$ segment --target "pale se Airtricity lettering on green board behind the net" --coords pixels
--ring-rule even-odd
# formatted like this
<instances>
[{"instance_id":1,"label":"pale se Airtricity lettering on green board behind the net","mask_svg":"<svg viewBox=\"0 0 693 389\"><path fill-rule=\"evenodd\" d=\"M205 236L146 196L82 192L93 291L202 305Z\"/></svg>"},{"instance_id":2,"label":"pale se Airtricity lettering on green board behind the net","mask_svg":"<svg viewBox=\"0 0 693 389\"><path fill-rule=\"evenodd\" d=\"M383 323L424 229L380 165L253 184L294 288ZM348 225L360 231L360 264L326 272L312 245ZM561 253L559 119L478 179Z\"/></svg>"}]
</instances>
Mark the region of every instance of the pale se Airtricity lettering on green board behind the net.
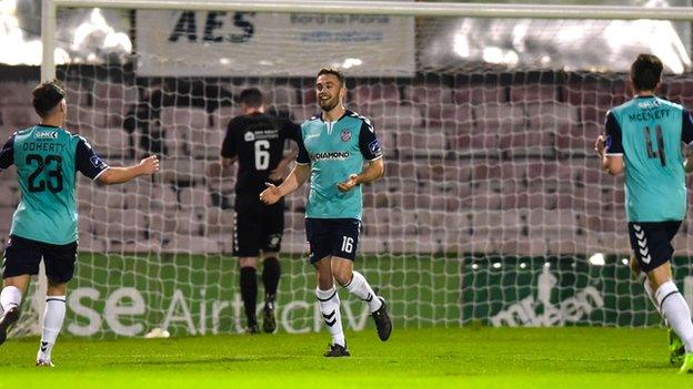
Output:
<instances>
[{"instance_id":1,"label":"pale se Airtricity lettering on green board behind the net","mask_svg":"<svg viewBox=\"0 0 693 389\"><path fill-rule=\"evenodd\" d=\"M161 307L164 313L162 320L150 323L147 319L148 304L135 288L116 289L103 298L103 309L93 308L93 303L102 299L97 288L77 288L68 298L68 308L74 315L67 330L77 336L92 336L102 330L111 330L119 336L139 336L154 327L184 328L187 335L243 331L245 315L240 294L234 294L230 301L210 299L205 294L205 289L200 289L195 296L185 296L181 289L175 289L170 298L164 299L168 306ZM342 301L342 323L346 328L362 330L370 311L368 305L354 303L352 307L351 301ZM258 311L261 308L262 305L259 305ZM279 328L289 334L320 331L324 327L317 301L292 300L277 306L275 315ZM231 328L221 328L220 323L229 317Z\"/></svg>"}]
</instances>

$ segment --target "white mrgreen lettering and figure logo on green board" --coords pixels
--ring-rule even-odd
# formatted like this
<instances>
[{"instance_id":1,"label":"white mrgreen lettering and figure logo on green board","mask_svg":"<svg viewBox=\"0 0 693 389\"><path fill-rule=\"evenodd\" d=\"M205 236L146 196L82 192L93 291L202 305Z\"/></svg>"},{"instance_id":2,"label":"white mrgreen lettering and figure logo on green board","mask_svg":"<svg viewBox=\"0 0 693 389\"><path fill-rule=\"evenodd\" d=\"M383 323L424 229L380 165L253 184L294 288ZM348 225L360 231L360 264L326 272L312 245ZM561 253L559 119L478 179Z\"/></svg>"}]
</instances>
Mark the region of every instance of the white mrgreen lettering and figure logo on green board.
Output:
<instances>
[{"instance_id":1,"label":"white mrgreen lettering and figure logo on green board","mask_svg":"<svg viewBox=\"0 0 693 389\"><path fill-rule=\"evenodd\" d=\"M602 294L593 286L584 287L562 301L552 301L551 295L558 278L548 268L536 277L536 297L529 295L491 317L500 326L549 327L576 323L604 306Z\"/></svg>"}]
</instances>

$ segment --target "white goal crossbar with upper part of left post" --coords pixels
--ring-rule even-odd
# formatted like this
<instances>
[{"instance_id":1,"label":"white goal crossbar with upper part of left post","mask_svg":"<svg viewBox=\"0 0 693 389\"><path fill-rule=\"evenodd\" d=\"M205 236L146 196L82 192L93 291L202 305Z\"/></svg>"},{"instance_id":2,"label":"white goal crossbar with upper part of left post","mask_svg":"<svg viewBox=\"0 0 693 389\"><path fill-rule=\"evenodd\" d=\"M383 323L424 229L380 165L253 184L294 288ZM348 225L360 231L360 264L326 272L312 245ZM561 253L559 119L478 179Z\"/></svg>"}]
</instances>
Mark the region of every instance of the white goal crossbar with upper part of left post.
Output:
<instances>
[{"instance_id":1,"label":"white goal crossbar with upper part of left post","mask_svg":"<svg viewBox=\"0 0 693 389\"><path fill-rule=\"evenodd\" d=\"M400 17L508 18L508 19L620 19L693 20L693 8L643 8L616 6L546 6L488 3L422 3L408 1L322 1L301 2L255 0L43 0L41 13L41 81L56 78L56 30L58 8L117 8L143 10L187 9L191 11L240 11L278 13L390 14Z\"/></svg>"}]
</instances>

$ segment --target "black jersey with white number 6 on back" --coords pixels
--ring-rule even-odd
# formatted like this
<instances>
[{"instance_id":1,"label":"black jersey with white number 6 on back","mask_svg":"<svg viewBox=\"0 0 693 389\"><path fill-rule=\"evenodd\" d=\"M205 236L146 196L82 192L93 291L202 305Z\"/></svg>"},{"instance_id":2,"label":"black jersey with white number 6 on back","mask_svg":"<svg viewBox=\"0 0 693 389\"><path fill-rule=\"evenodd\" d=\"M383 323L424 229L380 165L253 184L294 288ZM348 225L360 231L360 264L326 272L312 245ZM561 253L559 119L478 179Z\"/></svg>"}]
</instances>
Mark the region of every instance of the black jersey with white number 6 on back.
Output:
<instances>
[{"instance_id":1,"label":"black jersey with white number 6 on back","mask_svg":"<svg viewBox=\"0 0 693 389\"><path fill-rule=\"evenodd\" d=\"M221 146L221 156L238 156L235 193L257 197L284 153L287 140L295 141L301 127L290 120L261 113L233 117Z\"/></svg>"}]
</instances>

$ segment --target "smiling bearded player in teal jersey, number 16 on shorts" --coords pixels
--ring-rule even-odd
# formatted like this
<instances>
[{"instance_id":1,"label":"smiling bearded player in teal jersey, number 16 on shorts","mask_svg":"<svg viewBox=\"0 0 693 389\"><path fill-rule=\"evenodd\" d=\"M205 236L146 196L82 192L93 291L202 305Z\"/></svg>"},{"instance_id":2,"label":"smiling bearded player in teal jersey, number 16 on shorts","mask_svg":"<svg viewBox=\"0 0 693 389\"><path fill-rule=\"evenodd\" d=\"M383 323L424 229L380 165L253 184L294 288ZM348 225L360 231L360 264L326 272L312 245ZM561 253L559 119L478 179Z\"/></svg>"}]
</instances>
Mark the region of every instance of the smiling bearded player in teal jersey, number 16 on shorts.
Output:
<instances>
[{"instance_id":1,"label":"smiling bearded player in teal jersey, number 16 on shorts","mask_svg":"<svg viewBox=\"0 0 693 389\"><path fill-rule=\"evenodd\" d=\"M385 300L353 270L361 229L361 184L380 178L384 163L371 122L343 105L344 75L335 69L321 69L315 93L322 112L301 125L297 166L281 185L268 183L260 199L274 204L310 176L305 235L310 262L317 269L315 295L332 335L324 356L348 357L334 279L368 303L381 340L388 340L392 330Z\"/></svg>"}]
</instances>

